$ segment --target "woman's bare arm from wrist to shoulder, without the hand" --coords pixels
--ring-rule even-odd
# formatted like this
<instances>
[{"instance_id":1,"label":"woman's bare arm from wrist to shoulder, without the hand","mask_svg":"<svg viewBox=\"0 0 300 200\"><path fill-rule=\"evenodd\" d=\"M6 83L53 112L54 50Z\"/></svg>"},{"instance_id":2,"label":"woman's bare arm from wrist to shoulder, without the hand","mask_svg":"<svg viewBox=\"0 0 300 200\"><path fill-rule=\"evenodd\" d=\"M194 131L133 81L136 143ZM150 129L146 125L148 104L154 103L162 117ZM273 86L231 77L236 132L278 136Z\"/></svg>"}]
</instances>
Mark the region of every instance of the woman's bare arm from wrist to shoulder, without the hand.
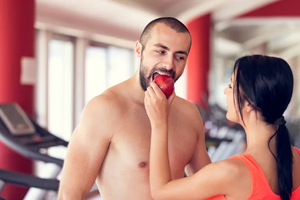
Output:
<instances>
[{"instance_id":1,"label":"woman's bare arm from wrist to shoulder, without the hand","mask_svg":"<svg viewBox=\"0 0 300 200\"><path fill-rule=\"evenodd\" d=\"M239 178L236 160L228 159L208 164L191 176L171 180L167 128L163 126L152 128L149 164L150 189L155 200L200 200L230 195Z\"/></svg>"}]
</instances>

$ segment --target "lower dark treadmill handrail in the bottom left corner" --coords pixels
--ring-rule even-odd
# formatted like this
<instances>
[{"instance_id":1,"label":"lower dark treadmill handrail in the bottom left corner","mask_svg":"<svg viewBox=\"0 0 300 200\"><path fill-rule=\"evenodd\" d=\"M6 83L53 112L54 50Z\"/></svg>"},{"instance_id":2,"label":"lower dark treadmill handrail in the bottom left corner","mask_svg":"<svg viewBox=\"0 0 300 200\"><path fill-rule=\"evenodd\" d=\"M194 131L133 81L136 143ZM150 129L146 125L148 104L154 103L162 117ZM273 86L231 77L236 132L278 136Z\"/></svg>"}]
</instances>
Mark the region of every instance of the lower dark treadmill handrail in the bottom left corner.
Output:
<instances>
[{"instance_id":1,"label":"lower dark treadmill handrail in the bottom left corner","mask_svg":"<svg viewBox=\"0 0 300 200\"><path fill-rule=\"evenodd\" d=\"M0 179L11 184L54 191L58 190L59 185L59 180L57 179L39 178L33 175L4 169L0 169Z\"/></svg>"}]
</instances>

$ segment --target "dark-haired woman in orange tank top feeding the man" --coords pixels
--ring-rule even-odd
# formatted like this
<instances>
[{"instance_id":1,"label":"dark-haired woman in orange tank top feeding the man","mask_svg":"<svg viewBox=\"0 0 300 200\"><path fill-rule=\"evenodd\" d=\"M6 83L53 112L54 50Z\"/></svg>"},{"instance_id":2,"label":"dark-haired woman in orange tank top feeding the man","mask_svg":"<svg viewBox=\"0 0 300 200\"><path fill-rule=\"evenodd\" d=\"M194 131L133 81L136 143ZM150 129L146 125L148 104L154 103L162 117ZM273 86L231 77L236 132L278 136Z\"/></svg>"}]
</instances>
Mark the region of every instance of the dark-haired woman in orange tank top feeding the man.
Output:
<instances>
[{"instance_id":1,"label":"dark-haired woman in orange tank top feeding the man","mask_svg":"<svg viewBox=\"0 0 300 200\"><path fill-rule=\"evenodd\" d=\"M292 91L292 71L283 59L263 55L237 59L224 90L226 117L243 126L246 150L210 163L191 176L172 180L167 118L175 93L166 98L152 82L145 91L145 108L151 122L152 197L299 200L300 151L291 146L283 117Z\"/></svg>"}]
</instances>

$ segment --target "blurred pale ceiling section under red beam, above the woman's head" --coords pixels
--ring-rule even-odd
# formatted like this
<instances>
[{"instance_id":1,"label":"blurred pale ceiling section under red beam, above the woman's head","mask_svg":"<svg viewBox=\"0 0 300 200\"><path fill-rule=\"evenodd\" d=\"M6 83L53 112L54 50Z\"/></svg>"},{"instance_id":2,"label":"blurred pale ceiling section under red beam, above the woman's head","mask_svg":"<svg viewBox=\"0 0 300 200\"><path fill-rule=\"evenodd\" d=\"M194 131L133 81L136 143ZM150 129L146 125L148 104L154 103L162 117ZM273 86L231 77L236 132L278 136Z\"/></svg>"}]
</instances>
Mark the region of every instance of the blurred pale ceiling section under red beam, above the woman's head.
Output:
<instances>
[{"instance_id":1,"label":"blurred pale ceiling section under red beam, above the woman's head","mask_svg":"<svg viewBox=\"0 0 300 200\"><path fill-rule=\"evenodd\" d=\"M235 19L227 27L218 29L215 35L222 40L217 51L223 56L253 53L257 46L262 49L256 53L268 52L285 59L300 54L300 18Z\"/></svg>"}]
</instances>

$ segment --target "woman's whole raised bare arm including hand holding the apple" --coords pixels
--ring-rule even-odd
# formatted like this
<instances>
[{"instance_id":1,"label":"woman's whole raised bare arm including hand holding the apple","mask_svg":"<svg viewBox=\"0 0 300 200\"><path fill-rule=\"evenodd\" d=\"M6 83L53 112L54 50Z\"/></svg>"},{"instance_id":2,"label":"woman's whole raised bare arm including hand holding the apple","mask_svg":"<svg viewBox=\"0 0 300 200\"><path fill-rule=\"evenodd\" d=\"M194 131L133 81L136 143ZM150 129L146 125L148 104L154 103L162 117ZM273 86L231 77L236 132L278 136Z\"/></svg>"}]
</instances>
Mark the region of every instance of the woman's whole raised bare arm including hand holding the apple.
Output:
<instances>
[{"instance_id":1,"label":"woman's whole raised bare arm including hand holding the apple","mask_svg":"<svg viewBox=\"0 0 300 200\"><path fill-rule=\"evenodd\" d=\"M232 193L232 183L238 180L235 160L223 160L206 165L195 174L171 180L168 158L168 113L172 101L166 99L155 83L145 92L145 108L151 122L150 189L156 199L206 199Z\"/></svg>"}]
</instances>

